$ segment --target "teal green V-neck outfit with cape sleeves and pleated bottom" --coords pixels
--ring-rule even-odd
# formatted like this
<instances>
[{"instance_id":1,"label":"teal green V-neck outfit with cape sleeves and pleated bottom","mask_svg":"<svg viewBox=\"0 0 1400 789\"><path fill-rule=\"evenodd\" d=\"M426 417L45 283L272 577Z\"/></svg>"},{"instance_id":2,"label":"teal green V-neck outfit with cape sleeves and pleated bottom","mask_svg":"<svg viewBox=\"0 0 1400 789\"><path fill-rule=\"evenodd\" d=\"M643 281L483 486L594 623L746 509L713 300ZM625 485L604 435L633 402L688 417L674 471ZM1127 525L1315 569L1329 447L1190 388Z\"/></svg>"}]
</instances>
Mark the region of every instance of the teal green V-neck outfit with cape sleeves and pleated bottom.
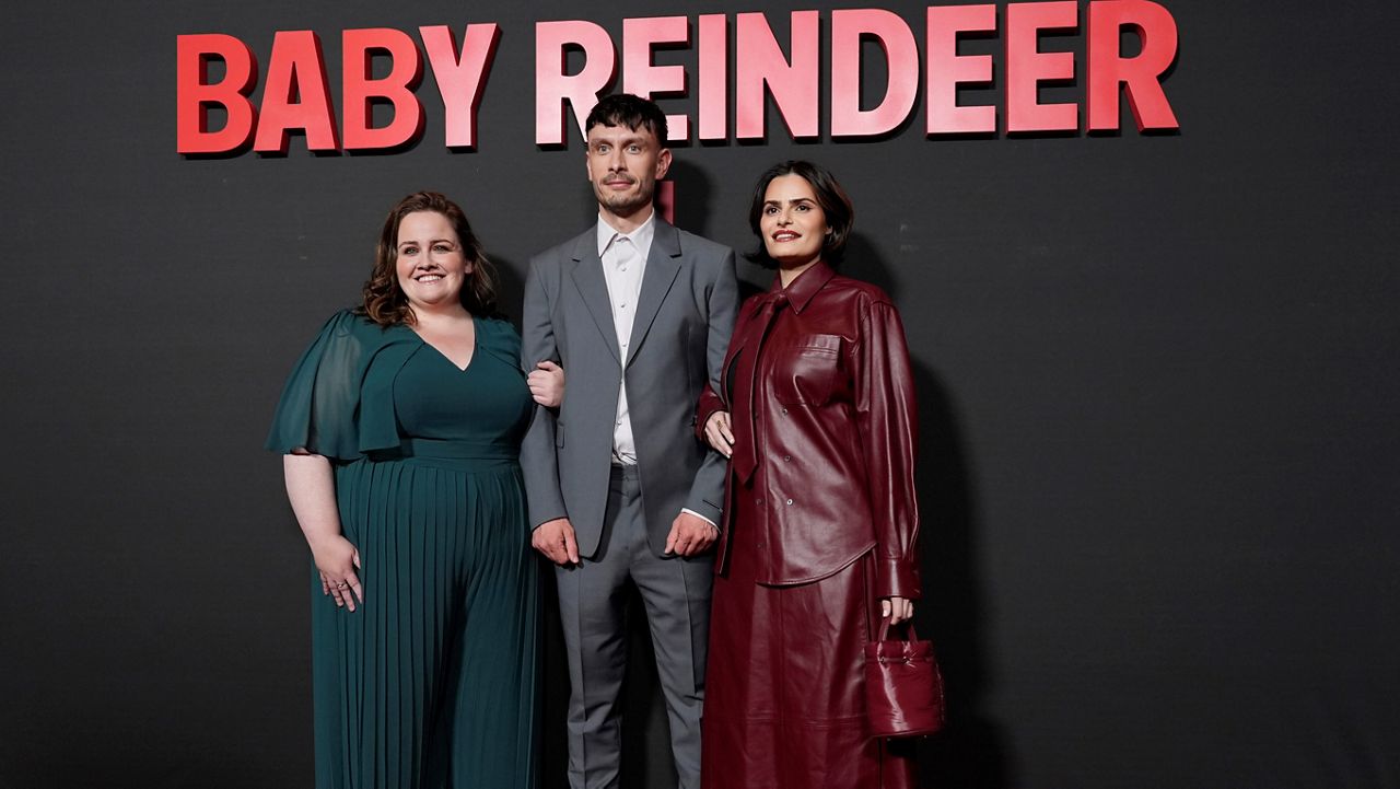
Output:
<instances>
[{"instance_id":1,"label":"teal green V-neck outfit with cape sleeves and pleated bottom","mask_svg":"<svg viewBox=\"0 0 1400 789\"><path fill-rule=\"evenodd\" d=\"M535 786L538 565L519 443L519 336L476 320L459 370L343 311L302 355L267 448L335 469L360 551L350 612L312 572L316 788Z\"/></svg>"}]
</instances>

